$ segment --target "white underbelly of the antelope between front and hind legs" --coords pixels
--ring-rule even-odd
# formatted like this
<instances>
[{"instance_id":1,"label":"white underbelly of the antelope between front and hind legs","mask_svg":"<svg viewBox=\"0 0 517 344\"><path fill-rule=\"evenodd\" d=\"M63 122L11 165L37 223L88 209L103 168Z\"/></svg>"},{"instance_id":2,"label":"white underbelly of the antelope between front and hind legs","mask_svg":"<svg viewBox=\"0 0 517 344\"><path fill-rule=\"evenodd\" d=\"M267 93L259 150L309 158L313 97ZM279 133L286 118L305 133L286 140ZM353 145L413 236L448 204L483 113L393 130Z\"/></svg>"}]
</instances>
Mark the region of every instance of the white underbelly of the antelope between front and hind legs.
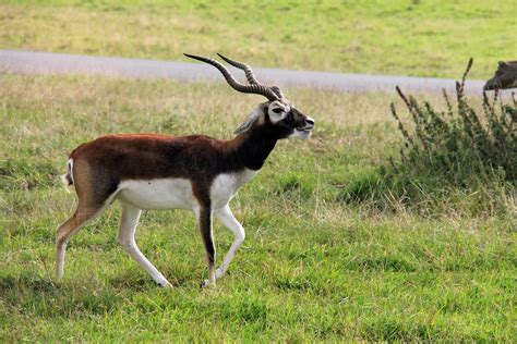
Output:
<instances>
[{"instance_id":1,"label":"white underbelly of the antelope between front and hind legs","mask_svg":"<svg viewBox=\"0 0 517 344\"><path fill-rule=\"evenodd\" d=\"M197 199L187 179L123 181L117 198L141 209L193 209Z\"/></svg>"}]
</instances>

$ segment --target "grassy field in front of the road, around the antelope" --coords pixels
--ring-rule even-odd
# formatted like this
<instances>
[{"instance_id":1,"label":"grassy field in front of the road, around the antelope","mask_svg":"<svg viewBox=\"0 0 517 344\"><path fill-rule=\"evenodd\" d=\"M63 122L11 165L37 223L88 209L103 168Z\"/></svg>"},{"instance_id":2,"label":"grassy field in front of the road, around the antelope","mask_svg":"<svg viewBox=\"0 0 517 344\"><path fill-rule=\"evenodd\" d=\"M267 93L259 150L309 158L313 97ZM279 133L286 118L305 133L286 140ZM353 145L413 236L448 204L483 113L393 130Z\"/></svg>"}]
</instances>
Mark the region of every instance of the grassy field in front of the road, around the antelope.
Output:
<instances>
[{"instance_id":1,"label":"grassy field in front of the road, around the antelope","mask_svg":"<svg viewBox=\"0 0 517 344\"><path fill-rule=\"evenodd\" d=\"M117 204L72 238L64 281L55 283L55 230L75 202L58 182L67 155L107 133L229 138L262 99L223 84L0 83L0 342L517 336L512 214L472 217L445 205L424 217L341 200L349 183L398 150L394 96L288 90L316 131L309 142L281 142L232 201L247 241L216 290L199 287L206 269L192 214L143 216L140 247L175 285L161 290L117 246ZM219 224L215 233L220 259L231 236Z\"/></svg>"}]
</instances>

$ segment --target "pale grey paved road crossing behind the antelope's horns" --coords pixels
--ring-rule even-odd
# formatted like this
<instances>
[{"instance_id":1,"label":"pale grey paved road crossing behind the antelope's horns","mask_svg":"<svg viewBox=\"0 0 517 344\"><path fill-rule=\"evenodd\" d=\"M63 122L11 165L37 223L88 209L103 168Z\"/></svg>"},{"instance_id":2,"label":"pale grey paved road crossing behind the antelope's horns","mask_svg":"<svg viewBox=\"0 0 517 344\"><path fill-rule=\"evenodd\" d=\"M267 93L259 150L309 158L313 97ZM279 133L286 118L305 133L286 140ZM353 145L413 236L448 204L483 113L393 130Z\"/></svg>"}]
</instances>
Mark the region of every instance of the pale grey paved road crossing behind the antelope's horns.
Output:
<instances>
[{"instance_id":1,"label":"pale grey paved road crossing behind the antelope's horns","mask_svg":"<svg viewBox=\"0 0 517 344\"><path fill-rule=\"evenodd\" d=\"M254 69L257 77L268 85L280 87L314 87L339 91L441 91L455 89L455 81L434 77L410 77L368 74L341 74L310 71ZM218 81L221 76L213 66L202 63L158 60L103 58L49 52L0 50L0 72L20 74L100 74L140 78L175 78L183 81ZM458 71L458 73L461 71ZM242 74L240 75L242 79ZM469 94L481 94L484 82L467 81Z\"/></svg>"}]
</instances>

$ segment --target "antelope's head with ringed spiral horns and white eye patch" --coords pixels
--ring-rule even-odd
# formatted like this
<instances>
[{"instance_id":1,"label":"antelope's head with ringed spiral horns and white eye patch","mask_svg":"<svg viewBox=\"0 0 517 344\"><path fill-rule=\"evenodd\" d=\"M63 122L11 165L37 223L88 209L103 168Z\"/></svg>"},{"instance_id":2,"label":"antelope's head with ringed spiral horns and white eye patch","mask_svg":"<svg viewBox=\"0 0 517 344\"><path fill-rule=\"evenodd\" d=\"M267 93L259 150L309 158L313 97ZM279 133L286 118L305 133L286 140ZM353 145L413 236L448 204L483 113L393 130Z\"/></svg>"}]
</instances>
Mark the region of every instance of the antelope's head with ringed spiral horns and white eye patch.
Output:
<instances>
[{"instance_id":1,"label":"antelope's head with ringed spiral horns and white eye patch","mask_svg":"<svg viewBox=\"0 0 517 344\"><path fill-rule=\"evenodd\" d=\"M218 69L233 89L245 94L262 95L268 99L268 101L261 103L248 115L244 123L235 131L235 134L241 134L251 128L261 128L276 138L308 139L311 136L314 128L314 120L296 109L284 96L279 87L261 84L248 64L230 60L218 53L223 60L245 72L249 83L245 85L239 83L225 65L214 59L187 53L185 56Z\"/></svg>"}]
</instances>

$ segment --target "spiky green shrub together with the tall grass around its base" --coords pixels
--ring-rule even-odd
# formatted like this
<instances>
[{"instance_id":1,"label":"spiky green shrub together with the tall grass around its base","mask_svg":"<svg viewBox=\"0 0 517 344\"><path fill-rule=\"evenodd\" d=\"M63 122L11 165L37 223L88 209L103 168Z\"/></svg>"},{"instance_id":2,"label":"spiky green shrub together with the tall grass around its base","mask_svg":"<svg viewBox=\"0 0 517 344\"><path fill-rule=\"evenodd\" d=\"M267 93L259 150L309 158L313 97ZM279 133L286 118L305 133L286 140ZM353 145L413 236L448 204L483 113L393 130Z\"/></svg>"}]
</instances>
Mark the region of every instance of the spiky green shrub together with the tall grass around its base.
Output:
<instances>
[{"instance_id":1,"label":"spiky green shrub together with the tall grass around its base","mask_svg":"<svg viewBox=\"0 0 517 344\"><path fill-rule=\"evenodd\" d=\"M503 105L500 93L493 100L483 94L480 109L465 96L465 78L456 83L453 105L444 90L445 111L428 101L406 96L399 87L412 119L409 131L395 105L392 114L402 135L400 157L390 158L377 173L349 183L340 199L373 204L385 209L394 204L428 213L455 210L471 216L507 212L517 184L517 103ZM453 209L454 210L454 209ZM455 211L454 210L454 211Z\"/></svg>"}]
</instances>

